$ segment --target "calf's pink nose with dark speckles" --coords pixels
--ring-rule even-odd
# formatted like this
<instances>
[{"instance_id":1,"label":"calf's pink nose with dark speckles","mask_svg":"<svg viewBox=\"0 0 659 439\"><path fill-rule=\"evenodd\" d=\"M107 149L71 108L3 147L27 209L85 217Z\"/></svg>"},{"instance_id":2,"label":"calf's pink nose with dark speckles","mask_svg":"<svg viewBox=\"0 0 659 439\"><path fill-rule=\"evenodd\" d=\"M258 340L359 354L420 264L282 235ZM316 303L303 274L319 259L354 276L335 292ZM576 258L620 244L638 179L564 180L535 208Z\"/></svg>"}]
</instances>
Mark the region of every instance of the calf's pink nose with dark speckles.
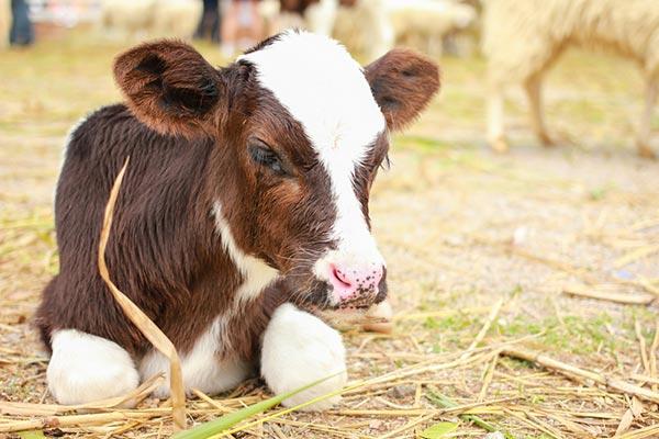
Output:
<instances>
[{"instance_id":1,"label":"calf's pink nose with dark speckles","mask_svg":"<svg viewBox=\"0 0 659 439\"><path fill-rule=\"evenodd\" d=\"M345 301L360 294L375 295L382 280L382 266L351 268L333 263L330 266L330 281L334 285L334 294Z\"/></svg>"}]
</instances>

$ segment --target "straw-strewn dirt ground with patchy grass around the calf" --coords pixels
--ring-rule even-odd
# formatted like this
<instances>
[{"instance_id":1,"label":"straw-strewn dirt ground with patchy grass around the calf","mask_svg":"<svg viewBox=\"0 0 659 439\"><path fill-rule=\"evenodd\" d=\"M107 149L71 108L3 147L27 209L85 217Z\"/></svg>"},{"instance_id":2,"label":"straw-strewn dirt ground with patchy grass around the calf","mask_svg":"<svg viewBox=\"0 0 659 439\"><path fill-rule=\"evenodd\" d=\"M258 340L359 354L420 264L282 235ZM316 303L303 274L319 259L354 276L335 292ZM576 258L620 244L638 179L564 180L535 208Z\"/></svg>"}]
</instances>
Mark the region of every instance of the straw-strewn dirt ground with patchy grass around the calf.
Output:
<instances>
[{"instance_id":1,"label":"straw-strewn dirt ground with patchy grass around the calf","mask_svg":"<svg viewBox=\"0 0 659 439\"><path fill-rule=\"evenodd\" d=\"M74 35L0 53L0 431L57 412L9 403L54 403L31 326L41 289L57 271L52 196L68 127L120 99L110 65L123 47ZM200 49L220 63L219 50ZM659 437L659 162L637 158L633 147L638 72L607 55L568 53L546 83L560 146L538 145L523 95L511 89L513 147L502 156L483 139L484 63L440 63L442 95L395 137L391 170L372 194L393 333L344 325L350 378L371 381L328 413L280 416L234 437L415 438L439 421L457 425L445 437L485 436L458 416L465 413L520 438L612 437L616 429ZM518 350L559 363L513 358ZM557 371L566 365L594 375L566 376ZM623 393L615 380L632 387ZM633 397L641 386L645 396ZM458 408L437 406L437 394ZM208 420L265 395L253 380L189 408ZM156 413L158 404L146 399L135 413ZM45 429L167 437L171 420L160 409Z\"/></svg>"}]
</instances>

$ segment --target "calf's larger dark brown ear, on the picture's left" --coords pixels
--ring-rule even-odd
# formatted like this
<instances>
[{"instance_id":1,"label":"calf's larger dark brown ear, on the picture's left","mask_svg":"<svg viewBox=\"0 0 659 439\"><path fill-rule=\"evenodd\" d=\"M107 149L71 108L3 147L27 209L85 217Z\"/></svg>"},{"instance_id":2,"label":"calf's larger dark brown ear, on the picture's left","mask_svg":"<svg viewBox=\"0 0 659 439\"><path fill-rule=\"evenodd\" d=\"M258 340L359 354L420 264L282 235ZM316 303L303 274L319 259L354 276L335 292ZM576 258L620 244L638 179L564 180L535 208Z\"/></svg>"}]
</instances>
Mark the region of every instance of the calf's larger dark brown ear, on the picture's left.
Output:
<instances>
[{"instance_id":1,"label":"calf's larger dark brown ear, on the picture's left","mask_svg":"<svg viewBox=\"0 0 659 439\"><path fill-rule=\"evenodd\" d=\"M222 79L191 46L159 41L134 47L114 61L114 78L150 128L187 137L212 132Z\"/></svg>"}]
</instances>

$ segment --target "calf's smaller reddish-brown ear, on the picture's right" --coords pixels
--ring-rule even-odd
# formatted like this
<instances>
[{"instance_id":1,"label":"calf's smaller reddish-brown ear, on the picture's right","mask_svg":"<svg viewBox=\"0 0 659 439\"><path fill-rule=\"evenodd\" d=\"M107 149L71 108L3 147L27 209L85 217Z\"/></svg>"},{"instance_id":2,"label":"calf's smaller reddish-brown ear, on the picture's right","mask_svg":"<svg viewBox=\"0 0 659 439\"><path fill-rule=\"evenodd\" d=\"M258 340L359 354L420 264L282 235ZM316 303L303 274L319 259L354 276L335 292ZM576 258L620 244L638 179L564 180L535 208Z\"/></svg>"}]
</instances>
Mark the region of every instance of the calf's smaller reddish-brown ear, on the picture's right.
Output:
<instances>
[{"instance_id":1,"label":"calf's smaller reddish-brown ear, on the picture's right","mask_svg":"<svg viewBox=\"0 0 659 439\"><path fill-rule=\"evenodd\" d=\"M364 72L391 131L414 121L439 90L437 65L410 49L394 48Z\"/></svg>"}]
</instances>

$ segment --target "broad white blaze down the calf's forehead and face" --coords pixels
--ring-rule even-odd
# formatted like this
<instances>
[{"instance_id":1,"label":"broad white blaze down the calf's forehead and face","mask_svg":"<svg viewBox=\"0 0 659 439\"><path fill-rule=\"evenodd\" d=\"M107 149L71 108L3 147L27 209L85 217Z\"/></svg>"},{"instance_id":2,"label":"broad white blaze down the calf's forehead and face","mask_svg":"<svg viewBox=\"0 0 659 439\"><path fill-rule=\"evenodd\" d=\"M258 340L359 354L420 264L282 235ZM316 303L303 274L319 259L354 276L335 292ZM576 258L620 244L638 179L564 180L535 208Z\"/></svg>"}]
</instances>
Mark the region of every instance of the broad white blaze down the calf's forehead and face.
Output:
<instances>
[{"instance_id":1,"label":"broad white blaze down the calf's forehead and face","mask_svg":"<svg viewBox=\"0 0 659 439\"><path fill-rule=\"evenodd\" d=\"M356 168L386 128L361 66L337 42L293 31L239 59L256 67L259 85L300 122L330 176L336 204L330 238L338 248L319 261L316 274L326 278L335 258L383 266L353 185Z\"/></svg>"}]
</instances>

